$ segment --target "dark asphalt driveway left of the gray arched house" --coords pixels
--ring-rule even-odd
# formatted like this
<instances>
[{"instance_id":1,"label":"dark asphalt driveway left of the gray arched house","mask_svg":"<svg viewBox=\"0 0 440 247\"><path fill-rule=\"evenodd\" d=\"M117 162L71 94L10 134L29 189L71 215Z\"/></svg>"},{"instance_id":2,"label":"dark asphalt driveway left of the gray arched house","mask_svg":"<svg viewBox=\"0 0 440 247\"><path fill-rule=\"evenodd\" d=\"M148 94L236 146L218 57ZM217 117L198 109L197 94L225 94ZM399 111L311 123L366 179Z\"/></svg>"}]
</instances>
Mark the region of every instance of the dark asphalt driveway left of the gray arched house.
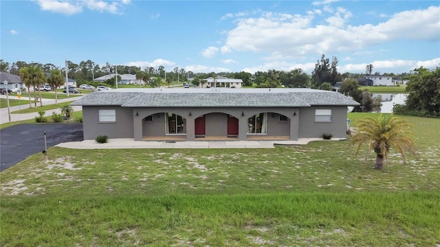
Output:
<instances>
[{"instance_id":1,"label":"dark asphalt driveway left of the gray arched house","mask_svg":"<svg viewBox=\"0 0 440 247\"><path fill-rule=\"evenodd\" d=\"M68 141L83 141L83 124L19 124L0 130L0 171L44 150Z\"/></svg>"}]
</instances>

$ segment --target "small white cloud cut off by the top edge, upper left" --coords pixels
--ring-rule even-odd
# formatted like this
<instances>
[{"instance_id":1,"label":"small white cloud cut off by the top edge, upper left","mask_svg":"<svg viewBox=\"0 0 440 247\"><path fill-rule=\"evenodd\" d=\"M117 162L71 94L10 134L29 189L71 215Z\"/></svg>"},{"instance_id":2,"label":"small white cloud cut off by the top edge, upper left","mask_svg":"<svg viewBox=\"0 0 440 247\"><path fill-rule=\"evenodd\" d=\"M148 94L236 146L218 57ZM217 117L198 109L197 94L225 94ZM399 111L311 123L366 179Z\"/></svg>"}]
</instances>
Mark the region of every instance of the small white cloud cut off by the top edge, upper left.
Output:
<instances>
[{"instance_id":1,"label":"small white cloud cut off by the top edge, upper left","mask_svg":"<svg viewBox=\"0 0 440 247\"><path fill-rule=\"evenodd\" d=\"M87 1L48 1L38 0L41 10L52 11L60 14L72 15L78 14L83 11L83 7L98 12L110 12L112 14L118 14L122 5L131 3L131 0L122 1L100 1L100 0L87 0Z\"/></svg>"}]
</instances>

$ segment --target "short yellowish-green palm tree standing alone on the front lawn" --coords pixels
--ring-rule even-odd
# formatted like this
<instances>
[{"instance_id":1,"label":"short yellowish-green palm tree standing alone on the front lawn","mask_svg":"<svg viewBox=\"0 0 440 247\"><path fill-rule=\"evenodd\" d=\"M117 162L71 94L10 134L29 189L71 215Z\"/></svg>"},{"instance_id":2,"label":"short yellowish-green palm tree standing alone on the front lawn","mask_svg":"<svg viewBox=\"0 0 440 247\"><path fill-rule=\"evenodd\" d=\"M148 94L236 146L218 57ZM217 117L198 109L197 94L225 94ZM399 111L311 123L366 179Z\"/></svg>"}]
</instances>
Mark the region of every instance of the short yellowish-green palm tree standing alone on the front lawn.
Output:
<instances>
[{"instance_id":1,"label":"short yellowish-green palm tree standing alone on the front lawn","mask_svg":"<svg viewBox=\"0 0 440 247\"><path fill-rule=\"evenodd\" d=\"M366 117L360 120L357 133L351 138L351 144L357 145L357 155L361 146L369 145L369 151L376 154L375 169L384 167L390 148L395 148L405 161L405 152L415 153L414 142L408 134L412 126L393 115L379 115L376 119Z\"/></svg>"}]
</instances>

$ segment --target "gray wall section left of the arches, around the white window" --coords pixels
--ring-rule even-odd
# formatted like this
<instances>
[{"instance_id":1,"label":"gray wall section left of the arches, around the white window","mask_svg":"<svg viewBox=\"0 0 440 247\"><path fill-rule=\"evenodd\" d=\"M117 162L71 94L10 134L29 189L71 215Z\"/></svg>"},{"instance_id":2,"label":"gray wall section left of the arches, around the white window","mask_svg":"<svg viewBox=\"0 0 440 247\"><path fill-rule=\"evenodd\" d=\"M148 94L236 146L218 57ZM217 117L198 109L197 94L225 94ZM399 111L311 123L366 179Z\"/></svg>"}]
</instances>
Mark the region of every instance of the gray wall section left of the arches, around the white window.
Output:
<instances>
[{"instance_id":1,"label":"gray wall section left of the arches, around the white window","mask_svg":"<svg viewBox=\"0 0 440 247\"><path fill-rule=\"evenodd\" d=\"M98 110L115 110L115 123L99 123ZM133 138L133 110L121 106L83 106L84 139L94 140L98 135L109 138Z\"/></svg>"}]
</instances>

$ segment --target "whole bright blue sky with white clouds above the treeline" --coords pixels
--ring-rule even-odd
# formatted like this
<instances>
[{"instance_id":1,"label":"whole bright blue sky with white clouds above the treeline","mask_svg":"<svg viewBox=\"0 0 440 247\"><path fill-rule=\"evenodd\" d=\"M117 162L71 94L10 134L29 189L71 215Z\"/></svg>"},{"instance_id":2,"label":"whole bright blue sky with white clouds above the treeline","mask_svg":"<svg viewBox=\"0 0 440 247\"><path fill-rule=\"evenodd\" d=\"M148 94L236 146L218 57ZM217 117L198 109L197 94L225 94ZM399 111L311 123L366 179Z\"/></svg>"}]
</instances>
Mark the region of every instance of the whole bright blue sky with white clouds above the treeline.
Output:
<instances>
[{"instance_id":1,"label":"whole bright blue sky with white clouds above the treeline","mask_svg":"<svg viewBox=\"0 0 440 247\"><path fill-rule=\"evenodd\" d=\"M439 1L0 1L6 62L311 73L440 66Z\"/></svg>"}]
</instances>

